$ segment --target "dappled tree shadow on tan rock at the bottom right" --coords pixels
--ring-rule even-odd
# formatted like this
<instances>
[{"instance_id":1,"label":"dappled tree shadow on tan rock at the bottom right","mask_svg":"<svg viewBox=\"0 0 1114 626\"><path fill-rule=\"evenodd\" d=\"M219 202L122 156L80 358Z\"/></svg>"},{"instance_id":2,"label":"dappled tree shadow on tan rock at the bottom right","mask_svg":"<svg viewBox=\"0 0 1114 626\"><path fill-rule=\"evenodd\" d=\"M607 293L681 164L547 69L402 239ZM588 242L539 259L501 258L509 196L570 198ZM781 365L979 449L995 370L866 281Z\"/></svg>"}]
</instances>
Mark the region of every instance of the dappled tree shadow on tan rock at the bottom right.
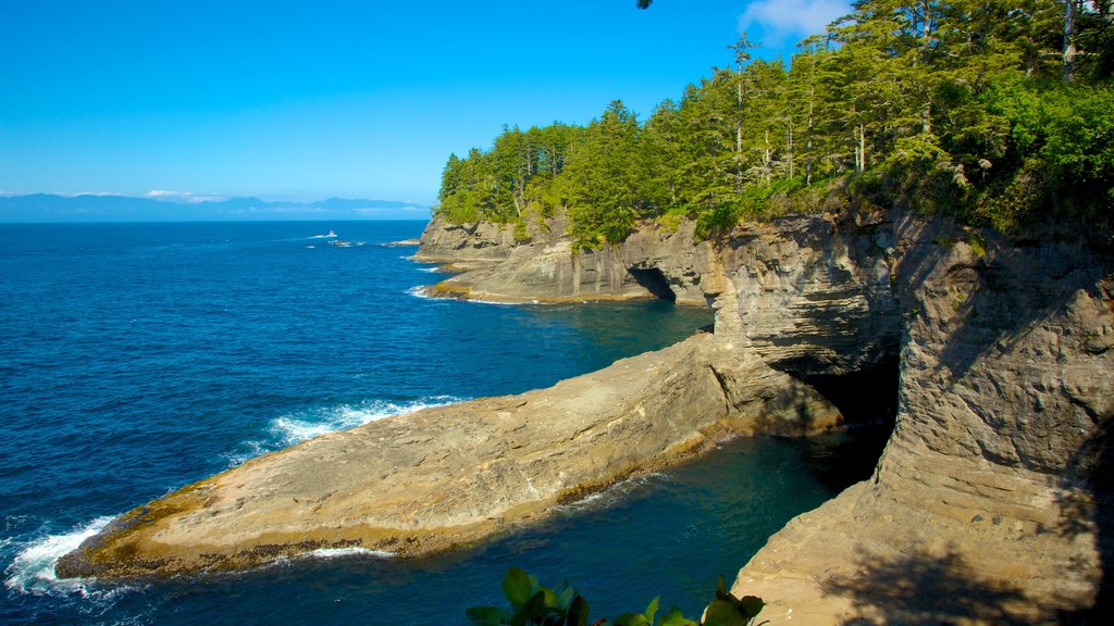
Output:
<instances>
[{"instance_id":1,"label":"dappled tree shadow on tan rock at the bottom right","mask_svg":"<svg viewBox=\"0 0 1114 626\"><path fill-rule=\"evenodd\" d=\"M898 558L864 556L857 576L833 576L824 594L849 598L858 615L843 624L937 626L957 622L1030 624L1020 589L983 578L955 551Z\"/></svg>"}]
</instances>

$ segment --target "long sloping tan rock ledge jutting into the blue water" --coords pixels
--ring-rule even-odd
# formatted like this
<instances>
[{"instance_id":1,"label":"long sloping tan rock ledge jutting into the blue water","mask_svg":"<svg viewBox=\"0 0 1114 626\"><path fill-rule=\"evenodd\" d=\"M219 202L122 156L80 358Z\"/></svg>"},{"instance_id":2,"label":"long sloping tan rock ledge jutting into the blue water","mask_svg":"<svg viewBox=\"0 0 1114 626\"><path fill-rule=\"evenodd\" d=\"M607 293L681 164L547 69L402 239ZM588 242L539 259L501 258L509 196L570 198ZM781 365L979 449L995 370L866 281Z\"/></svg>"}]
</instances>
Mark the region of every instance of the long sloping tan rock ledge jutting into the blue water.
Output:
<instances>
[{"instance_id":1,"label":"long sloping tan rock ledge jutting into the blue water","mask_svg":"<svg viewBox=\"0 0 1114 626\"><path fill-rule=\"evenodd\" d=\"M319 548L409 557L469 545L733 434L798 432L802 415L817 431L841 420L811 388L786 393L786 379L698 334L549 389L395 415L250 460L121 516L56 570L164 576Z\"/></svg>"}]
</instances>

